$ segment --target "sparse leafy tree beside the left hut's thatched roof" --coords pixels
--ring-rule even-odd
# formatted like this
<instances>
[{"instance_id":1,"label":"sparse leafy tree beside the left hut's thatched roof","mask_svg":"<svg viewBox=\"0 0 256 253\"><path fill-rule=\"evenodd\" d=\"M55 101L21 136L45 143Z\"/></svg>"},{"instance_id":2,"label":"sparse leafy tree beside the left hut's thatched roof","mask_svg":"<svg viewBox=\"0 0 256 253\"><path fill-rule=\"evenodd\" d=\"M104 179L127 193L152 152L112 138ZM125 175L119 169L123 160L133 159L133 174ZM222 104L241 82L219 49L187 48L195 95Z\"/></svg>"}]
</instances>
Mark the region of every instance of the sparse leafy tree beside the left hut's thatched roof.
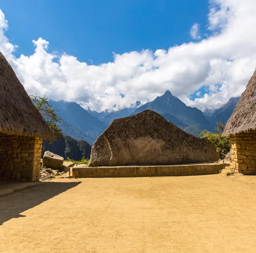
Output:
<instances>
[{"instance_id":1,"label":"sparse leafy tree beside the left hut's thatched roof","mask_svg":"<svg viewBox=\"0 0 256 253\"><path fill-rule=\"evenodd\" d=\"M54 132L54 141L57 141L61 138L62 131L58 125L61 122L61 118L58 118L55 109L52 109L52 105L48 103L47 97L40 97L39 95L30 95L31 100L45 118L47 124ZM49 141L49 140L48 140ZM50 142L50 141L49 141Z\"/></svg>"}]
</instances>

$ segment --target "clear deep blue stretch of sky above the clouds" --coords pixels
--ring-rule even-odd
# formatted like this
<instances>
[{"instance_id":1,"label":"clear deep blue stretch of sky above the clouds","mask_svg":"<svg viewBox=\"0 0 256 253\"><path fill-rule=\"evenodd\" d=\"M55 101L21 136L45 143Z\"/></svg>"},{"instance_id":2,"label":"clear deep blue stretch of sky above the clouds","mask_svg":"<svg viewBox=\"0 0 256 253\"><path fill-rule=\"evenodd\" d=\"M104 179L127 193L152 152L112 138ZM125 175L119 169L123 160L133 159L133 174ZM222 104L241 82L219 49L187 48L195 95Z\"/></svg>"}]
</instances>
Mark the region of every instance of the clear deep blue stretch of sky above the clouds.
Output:
<instances>
[{"instance_id":1,"label":"clear deep blue stretch of sky above the clouds","mask_svg":"<svg viewBox=\"0 0 256 253\"><path fill-rule=\"evenodd\" d=\"M193 23L206 32L206 0L8 0L0 9L7 37L31 55L32 40L49 41L49 51L66 52L88 64L107 63L113 52L168 49L191 40Z\"/></svg>"}]
</instances>

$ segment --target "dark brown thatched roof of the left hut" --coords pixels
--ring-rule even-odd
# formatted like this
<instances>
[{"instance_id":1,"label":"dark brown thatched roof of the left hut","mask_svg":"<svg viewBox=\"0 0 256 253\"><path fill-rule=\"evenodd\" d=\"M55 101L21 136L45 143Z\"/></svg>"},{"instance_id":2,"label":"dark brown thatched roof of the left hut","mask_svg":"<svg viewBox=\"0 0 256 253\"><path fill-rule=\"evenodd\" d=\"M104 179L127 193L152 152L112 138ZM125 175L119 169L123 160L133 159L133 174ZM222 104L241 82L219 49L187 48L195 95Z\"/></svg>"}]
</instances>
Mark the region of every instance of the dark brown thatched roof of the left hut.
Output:
<instances>
[{"instance_id":1,"label":"dark brown thatched roof of the left hut","mask_svg":"<svg viewBox=\"0 0 256 253\"><path fill-rule=\"evenodd\" d=\"M0 133L52 138L53 132L0 52Z\"/></svg>"}]
</instances>

